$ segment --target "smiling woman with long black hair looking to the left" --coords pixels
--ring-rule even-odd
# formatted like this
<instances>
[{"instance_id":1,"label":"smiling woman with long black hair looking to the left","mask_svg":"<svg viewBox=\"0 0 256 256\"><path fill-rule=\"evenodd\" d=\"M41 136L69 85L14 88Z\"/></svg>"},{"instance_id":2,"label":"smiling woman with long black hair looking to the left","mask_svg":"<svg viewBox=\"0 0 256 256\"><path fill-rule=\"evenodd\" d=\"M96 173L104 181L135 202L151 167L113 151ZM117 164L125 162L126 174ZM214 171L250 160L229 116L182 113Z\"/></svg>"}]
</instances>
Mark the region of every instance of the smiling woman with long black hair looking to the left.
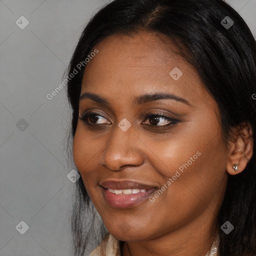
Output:
<instances>
[{"instance_id":1,"label":"smiling woman with long black hair looking to the left","mask_svg":"<svg viewBox=\"0 0 256 256\"><path fill-rule=\"evenodd\" d=\"M256 255L255 60L222 0L94 15L68 69L75 255Z\"/></svg>"}]
</instances>

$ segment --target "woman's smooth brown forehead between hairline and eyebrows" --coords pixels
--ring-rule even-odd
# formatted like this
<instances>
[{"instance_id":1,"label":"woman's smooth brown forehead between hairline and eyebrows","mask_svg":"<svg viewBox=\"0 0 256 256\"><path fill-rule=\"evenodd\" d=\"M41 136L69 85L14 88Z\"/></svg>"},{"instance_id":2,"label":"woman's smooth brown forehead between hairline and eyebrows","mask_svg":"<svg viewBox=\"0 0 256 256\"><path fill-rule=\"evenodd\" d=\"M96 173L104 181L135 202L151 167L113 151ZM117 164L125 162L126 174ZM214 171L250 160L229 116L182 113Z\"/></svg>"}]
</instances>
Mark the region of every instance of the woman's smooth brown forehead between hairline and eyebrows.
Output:
<instances>
[{"instance_id":1,"label":"woman's smooth brown forehead between hairline and eyebrows","mask_svg":"<svg viewBox=\"0 0 256 256\"><path fill-rule=\"evenodd\" d=\"M187 95L188 100L206 93L196 70L164 37L147 32L115 34L95 48L98 53L86 65L81 94L91 91L114 101L147 92ZM170 76L175 68L182 73L178 80Z\"/></svg>"}]
</instances>

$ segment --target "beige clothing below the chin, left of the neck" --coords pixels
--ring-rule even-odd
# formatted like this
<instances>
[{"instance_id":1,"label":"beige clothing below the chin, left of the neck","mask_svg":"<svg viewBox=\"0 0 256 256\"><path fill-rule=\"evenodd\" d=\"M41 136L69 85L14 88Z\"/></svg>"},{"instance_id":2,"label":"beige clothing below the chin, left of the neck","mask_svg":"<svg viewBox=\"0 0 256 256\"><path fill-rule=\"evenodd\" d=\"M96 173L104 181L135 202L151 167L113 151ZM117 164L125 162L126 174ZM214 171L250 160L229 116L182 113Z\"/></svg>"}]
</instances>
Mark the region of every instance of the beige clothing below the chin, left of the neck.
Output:
<instances>
[{"instance_id":1,"label":"beige clothing below the chin, left of the neck","mask_svg":"<svg viewBox=\"0 0 256 256\"><path fill-rule=\"evenodd\" d=\"M120 256L120 241L108 233L89 256Z\"/></svg>"}]
</instances>

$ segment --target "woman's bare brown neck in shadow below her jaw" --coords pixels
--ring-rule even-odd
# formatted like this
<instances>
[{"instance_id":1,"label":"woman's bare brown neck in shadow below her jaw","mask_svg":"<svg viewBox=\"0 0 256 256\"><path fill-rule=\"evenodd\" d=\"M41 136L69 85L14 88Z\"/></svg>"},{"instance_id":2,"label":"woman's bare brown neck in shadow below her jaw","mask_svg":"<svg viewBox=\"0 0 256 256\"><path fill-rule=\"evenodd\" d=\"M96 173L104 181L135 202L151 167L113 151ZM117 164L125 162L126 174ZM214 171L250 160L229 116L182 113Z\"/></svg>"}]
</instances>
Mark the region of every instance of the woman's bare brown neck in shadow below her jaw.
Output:
<instances>
[{"instance_id":1,"label":"woman's bare brown neck in shadow below her jaw","mask_svg":"<svg viewBox=\"0 0 256 256\"><path fill-rule=\"evenodd\" d=\"M154 239L124 241L121 247L121 255L205 256L217 234L216 216L212 212L208 212L208 214L207 222L198 218Z\"/></svg>"}]
</instances>

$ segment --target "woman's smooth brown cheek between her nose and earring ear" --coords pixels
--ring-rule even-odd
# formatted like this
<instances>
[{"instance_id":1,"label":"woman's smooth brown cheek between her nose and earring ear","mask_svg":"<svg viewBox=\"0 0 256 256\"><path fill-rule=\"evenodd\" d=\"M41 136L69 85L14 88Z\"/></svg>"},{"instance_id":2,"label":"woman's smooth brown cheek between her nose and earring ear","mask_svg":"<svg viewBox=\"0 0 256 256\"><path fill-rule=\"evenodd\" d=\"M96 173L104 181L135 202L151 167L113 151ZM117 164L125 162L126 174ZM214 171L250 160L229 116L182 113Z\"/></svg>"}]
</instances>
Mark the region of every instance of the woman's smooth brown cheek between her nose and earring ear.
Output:
<instances>
[{"instance_id":1,"label":"woman's smooth brown cheek between her nose and earring ear","mask_svg":"<svg viewBox=\"0 0 256 256\"><path fill-rule=\"evenodd\" d=\"M164 200L174 208L182 212L183 206L207 203L218 194L228 151L216 119L197 120L189 130L179 129L171 139L154 142L153 148L158 157L150 162L164 179L161 185L168 187Z\"/></svg>"}]
</instances>

